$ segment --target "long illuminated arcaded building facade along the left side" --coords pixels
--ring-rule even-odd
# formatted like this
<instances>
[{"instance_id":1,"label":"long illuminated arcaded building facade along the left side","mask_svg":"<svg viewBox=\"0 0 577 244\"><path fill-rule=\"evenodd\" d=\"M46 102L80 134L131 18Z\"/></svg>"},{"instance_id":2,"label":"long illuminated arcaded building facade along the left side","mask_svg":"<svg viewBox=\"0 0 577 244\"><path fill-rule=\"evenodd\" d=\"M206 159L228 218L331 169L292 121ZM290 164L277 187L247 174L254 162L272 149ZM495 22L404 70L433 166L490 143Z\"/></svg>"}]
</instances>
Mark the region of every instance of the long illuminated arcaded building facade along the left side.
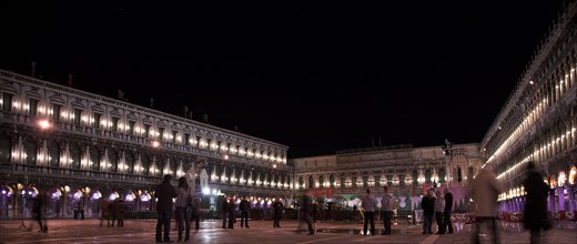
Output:
<instances>
[{"instance_id":1,"label":"long illuminated arcaded building facade along the left side","mask_svg":"<svg viewBox=\"0 0 577 244\"><path fill-rule=\"evenodd\" d=\"M3 70L0 96L0 218L28 217L40 191L52 217L97 216L117 197L152 212L164 174L253 204L293 189L279 143Z\"/></svg>"}]
</instances>

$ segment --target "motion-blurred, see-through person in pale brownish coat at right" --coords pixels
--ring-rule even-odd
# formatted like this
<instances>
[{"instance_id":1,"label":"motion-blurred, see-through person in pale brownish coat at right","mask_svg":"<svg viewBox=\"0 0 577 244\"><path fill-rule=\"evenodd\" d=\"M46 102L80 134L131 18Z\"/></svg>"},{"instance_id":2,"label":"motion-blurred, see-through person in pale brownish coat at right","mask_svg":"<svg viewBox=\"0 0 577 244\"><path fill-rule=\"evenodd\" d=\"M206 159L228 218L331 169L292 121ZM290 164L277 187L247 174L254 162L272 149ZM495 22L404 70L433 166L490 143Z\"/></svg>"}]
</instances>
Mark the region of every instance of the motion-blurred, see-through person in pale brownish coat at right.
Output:
<instances>
[{"instance_id":1,"label":"motion-blurred, see-through person in pale brownish coat at right","mask_svg":"<svg viewBox=\"0 0 577 244\"><path fill-rule=\"evenodd\" d=\"M503 186L497 181L497 175L493 173L493 165L485 164L472 182L470 195L474 201L474 214L477 225L473 235L473 243L480 242L480 225L490 223L490 228L488 230L493 236L493 243L497 244L497 197L502 192Z\"/></svg>"}]
</instances>

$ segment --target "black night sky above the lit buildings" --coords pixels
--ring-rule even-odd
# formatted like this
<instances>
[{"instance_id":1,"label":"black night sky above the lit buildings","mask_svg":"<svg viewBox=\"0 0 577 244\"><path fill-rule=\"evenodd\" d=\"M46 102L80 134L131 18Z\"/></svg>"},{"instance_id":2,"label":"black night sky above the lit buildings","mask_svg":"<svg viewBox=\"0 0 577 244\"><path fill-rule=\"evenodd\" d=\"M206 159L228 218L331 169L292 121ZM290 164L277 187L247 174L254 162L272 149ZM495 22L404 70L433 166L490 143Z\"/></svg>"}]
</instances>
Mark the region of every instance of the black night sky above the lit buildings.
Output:
<instances>
[{"instance_id":1,"label":"black night sky above the lit buildings","mask_svg":"<svg viewBox=\"0 0 577 244\"><path fill-rule=\"evenodd\" d=\"M0 69L188 105L288 157L480 142L561 6L17 2L0 3Z\"/></svg>"}]
</instances>

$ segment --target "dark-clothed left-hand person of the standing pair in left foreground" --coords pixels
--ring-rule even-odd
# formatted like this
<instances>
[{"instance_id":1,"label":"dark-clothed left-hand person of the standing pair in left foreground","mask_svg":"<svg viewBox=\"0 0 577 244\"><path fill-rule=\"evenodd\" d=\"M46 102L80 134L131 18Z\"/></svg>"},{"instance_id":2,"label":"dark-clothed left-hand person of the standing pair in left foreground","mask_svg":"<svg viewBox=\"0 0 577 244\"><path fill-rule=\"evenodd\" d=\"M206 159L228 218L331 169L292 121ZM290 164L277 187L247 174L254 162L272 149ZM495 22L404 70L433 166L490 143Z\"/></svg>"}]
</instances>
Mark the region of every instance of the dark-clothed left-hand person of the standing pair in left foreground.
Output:
<instances>
[{"instance_id":1,"label":"dark-clothed left-hand person of the standing pair in left foreground","mask_svg":"<svg viewBox=\"0 0 577 244\"><path fill-rule=\"evenodd\" d=\"M165 174L164 180L154 190L158 199L156 212L156 242L173 242L170 240L170 222L172 217L172 199L176 197L176 191L171 184L172 175ZM164 233L162 231L164 230ZM164 235L163 235L164 234Z\"/></svg>"}]
</instances>

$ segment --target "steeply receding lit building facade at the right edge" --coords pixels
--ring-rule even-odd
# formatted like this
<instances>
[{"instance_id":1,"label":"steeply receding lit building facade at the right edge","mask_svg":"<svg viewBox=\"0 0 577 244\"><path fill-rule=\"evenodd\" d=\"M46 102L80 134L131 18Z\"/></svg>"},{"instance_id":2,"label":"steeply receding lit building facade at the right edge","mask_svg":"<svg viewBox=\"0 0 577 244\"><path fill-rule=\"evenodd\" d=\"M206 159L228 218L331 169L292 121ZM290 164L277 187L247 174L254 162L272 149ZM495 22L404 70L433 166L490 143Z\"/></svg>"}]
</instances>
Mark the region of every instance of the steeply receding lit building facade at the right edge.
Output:
<instances>
[{"instance_id":1,"label":"steeply receding lit building facade at the right edge","mask_svg":"<svg viewBox=\"0 0 577 244\"><path fill-rule=\"evenodd\" d=\"M480 142L507 190L499 197L503 211L523 210L529 161L550 186L549 211L576 210L576 62L577 3L568 1Z\"/></svg>"}]
</instances>

